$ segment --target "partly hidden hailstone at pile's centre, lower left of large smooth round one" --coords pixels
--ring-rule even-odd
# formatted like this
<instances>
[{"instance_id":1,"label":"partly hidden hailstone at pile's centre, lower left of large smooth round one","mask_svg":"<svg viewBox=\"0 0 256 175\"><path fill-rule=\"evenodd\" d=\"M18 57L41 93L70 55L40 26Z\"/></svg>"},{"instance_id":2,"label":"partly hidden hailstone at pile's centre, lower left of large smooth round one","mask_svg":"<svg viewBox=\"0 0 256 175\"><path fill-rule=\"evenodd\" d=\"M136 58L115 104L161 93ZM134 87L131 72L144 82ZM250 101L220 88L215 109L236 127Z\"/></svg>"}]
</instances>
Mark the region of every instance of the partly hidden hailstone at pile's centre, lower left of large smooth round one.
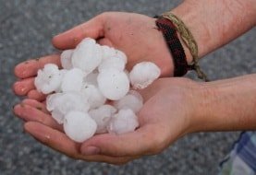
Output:
<instances>
[{"instance_id":1,"label":"partly hidden hailstone at pile's centre, lower left of large smooth round one","mask_svg":"<svg viewBox=\"0 0 256 175\"><path fill-rule=\"evenodd\" d=\"M90 84L83 84L81 88L81 94L83 99L87 99L91 109L104 105L106 101L106 98L99 90L99 88Z\"/></svg>"}]
</instances>

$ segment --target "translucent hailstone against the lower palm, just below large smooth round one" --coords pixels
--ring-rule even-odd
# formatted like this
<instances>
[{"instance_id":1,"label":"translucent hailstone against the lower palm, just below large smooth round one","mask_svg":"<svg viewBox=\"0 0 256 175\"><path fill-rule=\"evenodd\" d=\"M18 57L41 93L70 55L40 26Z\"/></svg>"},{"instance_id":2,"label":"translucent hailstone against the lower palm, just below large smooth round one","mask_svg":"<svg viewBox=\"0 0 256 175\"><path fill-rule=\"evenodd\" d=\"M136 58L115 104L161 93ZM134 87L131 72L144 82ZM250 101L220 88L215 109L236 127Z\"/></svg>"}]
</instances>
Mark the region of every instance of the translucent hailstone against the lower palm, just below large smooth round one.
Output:
<instances>
[{"instance_id":1,"label":"translucent hailstone against the lower palm, just below large smooth round one","mask_svg":"<svg viewBox=\"0 0 256 175\"><path fill-rule=\"evenodd\" d=\"M143 106L143 99L139 92L130 90L124 98L114 101L114 106L118 110L130 109L137 113Z\"/></svg>"}]
</instances>

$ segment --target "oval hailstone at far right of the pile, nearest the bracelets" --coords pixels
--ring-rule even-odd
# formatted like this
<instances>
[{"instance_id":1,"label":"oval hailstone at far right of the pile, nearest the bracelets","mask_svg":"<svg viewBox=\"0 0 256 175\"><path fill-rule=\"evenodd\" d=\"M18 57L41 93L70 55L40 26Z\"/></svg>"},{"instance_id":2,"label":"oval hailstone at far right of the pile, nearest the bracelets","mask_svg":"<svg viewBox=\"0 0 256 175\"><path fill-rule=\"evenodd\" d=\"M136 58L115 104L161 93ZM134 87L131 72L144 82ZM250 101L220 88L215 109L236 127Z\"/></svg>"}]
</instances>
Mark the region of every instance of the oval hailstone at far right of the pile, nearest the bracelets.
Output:
<instances>
[{"instance_id":1,"label":"oval hailstone at far right of the pile, nearest the bracelets","mask_svg":"<svg viewBox=\"0 0 256 175\"><path fill-rule=\"evenodd\" d=\"M152 62L141 62L136 64L129 73L132 87L145 88L157 79L161 74L160 68Z\"/></svg>"}]
</instances>

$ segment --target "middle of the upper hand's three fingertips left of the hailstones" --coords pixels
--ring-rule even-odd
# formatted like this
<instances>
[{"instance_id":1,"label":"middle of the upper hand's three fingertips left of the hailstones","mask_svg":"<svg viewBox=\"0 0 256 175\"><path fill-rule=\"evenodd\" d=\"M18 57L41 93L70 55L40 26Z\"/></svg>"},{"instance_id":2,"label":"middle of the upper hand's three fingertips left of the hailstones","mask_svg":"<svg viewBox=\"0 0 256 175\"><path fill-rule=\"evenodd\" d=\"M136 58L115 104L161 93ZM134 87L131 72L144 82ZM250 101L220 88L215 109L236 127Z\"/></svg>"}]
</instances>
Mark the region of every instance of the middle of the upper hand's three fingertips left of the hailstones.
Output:
<instances>
[{"instance_id":1,"label":"middle of the upper hand's three fingertips left of the hailstones","mask_svg":"<svg viewBox=\"0 0 256 175\"><path fill-rule=\"evenodd\" d=\"M13 85L13 91L18 95L18 96L25 96L28 94L28 92L31 89L34 89L34 78L30 77L27 79L22 79L20 81L17 81Z\"/></svg>"}]
</instances>

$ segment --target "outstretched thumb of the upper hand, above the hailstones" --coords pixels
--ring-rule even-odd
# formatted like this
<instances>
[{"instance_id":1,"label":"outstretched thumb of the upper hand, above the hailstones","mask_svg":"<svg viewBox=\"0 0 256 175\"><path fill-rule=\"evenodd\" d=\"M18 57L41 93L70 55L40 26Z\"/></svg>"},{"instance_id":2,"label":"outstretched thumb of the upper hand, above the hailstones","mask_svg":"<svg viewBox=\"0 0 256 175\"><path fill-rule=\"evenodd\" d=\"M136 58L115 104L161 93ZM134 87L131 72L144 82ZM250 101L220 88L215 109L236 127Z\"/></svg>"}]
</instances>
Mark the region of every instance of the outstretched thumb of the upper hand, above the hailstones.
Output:
<instances>
[{"instance_id":1,"label":"outstretched thumb of the upper hand, above the hailstones","mask_svg":"<svg viewBox=\"0 0 256 175\"><path fill-rule=\"evenodd\" d=\"M75 48L84 38L90 37L98 39L104 36L104 18L103 15L91 18L91 20L69 29L54 37L53 45L61 50Z\"/></svg>"}]
</instances>

